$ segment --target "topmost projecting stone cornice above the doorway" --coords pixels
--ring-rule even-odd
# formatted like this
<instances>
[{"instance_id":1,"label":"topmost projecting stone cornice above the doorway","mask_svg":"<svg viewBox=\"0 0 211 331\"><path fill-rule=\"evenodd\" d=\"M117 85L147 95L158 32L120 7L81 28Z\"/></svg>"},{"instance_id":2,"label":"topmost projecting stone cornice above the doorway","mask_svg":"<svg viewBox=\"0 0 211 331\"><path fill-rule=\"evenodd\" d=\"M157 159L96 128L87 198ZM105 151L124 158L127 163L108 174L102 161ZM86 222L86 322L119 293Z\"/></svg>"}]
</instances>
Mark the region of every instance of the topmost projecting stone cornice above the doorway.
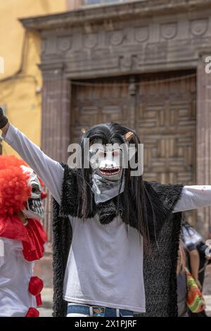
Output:
<instances>
[{"instance_id":1,"label":"topmost projecting stone cornice above the doorway","mask_svg":"<svg viewBox=\"0 0 211 331\"><path fill-rule=\"evenodd\" d=\"M90 23L99 23L102 20L125 20L129 16L143 18L149 15L175 15L176 13L188 13L190 8L195 11L210 8L210 0L140 0L129 3L98 6L94 8L79 8L76 11L68 11L52 15L43 15L32 18L20 18L20 22L27 29L49 30L55 27L73 27Z\"/></svg>"}]
</instances>

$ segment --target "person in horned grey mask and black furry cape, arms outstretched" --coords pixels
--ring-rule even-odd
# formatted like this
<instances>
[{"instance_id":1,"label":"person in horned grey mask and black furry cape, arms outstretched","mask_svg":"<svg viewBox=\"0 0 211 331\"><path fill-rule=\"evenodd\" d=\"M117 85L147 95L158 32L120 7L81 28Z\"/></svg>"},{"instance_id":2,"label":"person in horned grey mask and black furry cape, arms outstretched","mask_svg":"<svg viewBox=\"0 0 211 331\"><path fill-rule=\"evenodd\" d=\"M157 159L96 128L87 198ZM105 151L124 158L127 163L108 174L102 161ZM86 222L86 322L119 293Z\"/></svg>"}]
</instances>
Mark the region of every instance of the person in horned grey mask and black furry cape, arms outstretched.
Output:
<instances>
[{"instance_id":1,"label":"person in horned grey mask and black furry cape, arms outstretched","mask_svg":"<svg viewBox=\"0 0 211 331\"><path fill-rule=\"evenodd\" d=\"M0 128L53 195L53 316L177 316L181 211L210 205L211 187L132 175L130 158L116 157L132 144L139 168L139 137L117 123L84 132L75 168L46 156L3 111Z\"/></svg>"}]
</instances>

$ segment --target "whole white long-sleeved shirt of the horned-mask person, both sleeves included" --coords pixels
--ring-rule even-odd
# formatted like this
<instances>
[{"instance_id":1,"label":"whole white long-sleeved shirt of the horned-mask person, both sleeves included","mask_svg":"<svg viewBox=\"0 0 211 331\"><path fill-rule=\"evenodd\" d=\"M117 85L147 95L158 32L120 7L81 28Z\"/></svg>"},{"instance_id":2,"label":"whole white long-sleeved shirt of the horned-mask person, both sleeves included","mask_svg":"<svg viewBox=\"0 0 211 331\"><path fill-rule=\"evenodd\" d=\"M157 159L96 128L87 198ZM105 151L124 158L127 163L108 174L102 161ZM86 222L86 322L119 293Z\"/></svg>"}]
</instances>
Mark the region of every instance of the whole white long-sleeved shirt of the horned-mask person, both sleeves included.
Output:
<instances>
[{"instance_id":1,"label":"whole white long-sleeved shirt of the horned-mask person, both sleeves included","mask_svg":"<svg viewBox=\"0 0 211 331\"><path fill-rule=\"evenodd\" d=\"M41 177L60 203L63 167L46 156L23 133L10 125L6 142ZM211 186L185 186L174 213L211 204ZM120 218L101 225L98 216L85 220L70 218L72 245L65 271L63 297L66 301L145 311L143 241Z\"/></svg>"}]
</instances>

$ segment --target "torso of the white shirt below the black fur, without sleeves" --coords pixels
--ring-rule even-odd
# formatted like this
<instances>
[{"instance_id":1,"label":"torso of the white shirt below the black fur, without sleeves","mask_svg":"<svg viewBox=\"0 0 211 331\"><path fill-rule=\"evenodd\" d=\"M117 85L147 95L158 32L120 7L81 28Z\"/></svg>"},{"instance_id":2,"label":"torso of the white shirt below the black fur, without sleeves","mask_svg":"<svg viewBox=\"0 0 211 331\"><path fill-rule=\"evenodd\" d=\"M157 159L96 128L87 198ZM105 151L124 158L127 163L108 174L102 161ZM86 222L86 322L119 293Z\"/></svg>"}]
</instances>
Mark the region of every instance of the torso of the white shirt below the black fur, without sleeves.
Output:
<instances>
[{"instance_id":1,"label":"torso of the white shirt below the black fur, without sleeves","mask_svg":"<svg viewBox=\"0 0 211 331\"><path fill-rule=\"evenodd\" d=\"M121 218L102 225L98 216L70 218L72 245L64 299L130 311L145 311L143 240Z\"/></svg>"}]
</instances>

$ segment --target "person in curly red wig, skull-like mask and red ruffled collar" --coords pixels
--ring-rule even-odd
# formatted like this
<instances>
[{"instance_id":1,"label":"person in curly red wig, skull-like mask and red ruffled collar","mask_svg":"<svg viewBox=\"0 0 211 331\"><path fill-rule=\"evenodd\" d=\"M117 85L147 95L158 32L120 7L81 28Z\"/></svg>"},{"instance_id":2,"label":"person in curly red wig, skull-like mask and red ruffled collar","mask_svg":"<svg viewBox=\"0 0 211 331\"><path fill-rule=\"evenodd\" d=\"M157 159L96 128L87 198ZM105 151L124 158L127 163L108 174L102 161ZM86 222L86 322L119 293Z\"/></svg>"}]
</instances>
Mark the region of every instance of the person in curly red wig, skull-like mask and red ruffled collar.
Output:
<instances>
[{"instance_id":1,"label":"person in curly red wig, skull-like mask and red ruffled collar","mask_svg":"<svg viewBox=\"0 0 211 331\"><path fill-rule=\"evenodd\" d=\"M0 317L38 317L43 281L33 276L46 232L41 182L15 156L0 156Z\"/></svg>"}]
</instances>

